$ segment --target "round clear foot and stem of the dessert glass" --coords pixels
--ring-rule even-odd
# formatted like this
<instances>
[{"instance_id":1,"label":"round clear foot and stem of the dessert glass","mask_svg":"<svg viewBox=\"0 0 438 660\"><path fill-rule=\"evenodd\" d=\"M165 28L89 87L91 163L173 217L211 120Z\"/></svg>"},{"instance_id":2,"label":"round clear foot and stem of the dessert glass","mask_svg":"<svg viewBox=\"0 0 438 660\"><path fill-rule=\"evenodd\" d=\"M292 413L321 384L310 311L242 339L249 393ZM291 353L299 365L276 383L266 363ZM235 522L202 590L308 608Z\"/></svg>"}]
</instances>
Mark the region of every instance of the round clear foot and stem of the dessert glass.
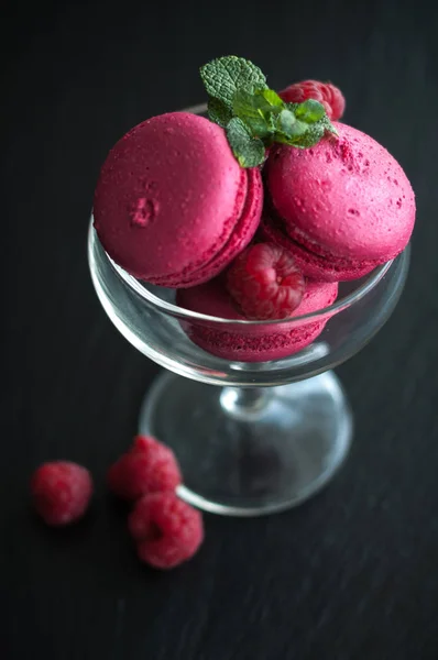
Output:
<instances>
[{"instance_id":1,"label":"round clear foot and stem of the dessert glass","mask_svg":"<svg viewBox=\"0 0 438 660\"><path fill-rule=\"evenodd\" d=\"M348 453L352 416L332 372L277 387L216 387L162 373L140 432L175 452L178 494L207 512L260 516L304 502Z\"/></svg>"}]
</instances>

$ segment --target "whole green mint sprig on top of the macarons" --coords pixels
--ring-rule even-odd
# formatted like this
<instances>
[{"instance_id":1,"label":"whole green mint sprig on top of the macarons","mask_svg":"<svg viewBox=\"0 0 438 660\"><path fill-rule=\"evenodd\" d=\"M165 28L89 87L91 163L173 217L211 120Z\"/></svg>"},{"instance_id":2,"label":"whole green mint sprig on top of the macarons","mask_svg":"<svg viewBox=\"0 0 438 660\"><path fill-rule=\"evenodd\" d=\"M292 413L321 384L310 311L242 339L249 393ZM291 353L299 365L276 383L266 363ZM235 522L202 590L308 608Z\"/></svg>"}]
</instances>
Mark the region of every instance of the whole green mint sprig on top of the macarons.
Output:
<instances>
[{"instance_id":1,"label":"whole green mint sprig on top of the macarons","mask_svg":"<svg viewBox=\"0 0 438 660\"><path fill-rule=\"evenodd\" d=\"M321 103L284 102L248 59L219 57L202 66L200 76L209 95L209 118L226 129L242 167L261 165L265 148L274 143L307 148L326 132L337 134Z\"/></svg>"}]
</instances>

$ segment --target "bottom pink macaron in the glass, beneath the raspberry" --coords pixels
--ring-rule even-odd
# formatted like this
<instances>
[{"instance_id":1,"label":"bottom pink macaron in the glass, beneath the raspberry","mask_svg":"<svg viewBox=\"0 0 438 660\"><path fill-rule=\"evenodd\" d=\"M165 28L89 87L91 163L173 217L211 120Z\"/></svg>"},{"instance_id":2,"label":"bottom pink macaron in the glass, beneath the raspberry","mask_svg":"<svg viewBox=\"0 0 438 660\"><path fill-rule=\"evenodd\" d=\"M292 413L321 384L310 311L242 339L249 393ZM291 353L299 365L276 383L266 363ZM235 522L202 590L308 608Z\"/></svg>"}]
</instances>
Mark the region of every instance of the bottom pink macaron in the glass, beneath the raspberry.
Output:
<instances>
[{"instance_id":1,"label":"bottom pink macaron in the glass, beneath the raspberry","mask_svg":"<svg viewBox=\"0 0 438 660\"><path fill-rule=\"evenodd\" d=\"M176 295L179 307L230 320L245 320L227 292L222 275ZM307 282L306 292L293 317L325 309L338 295L336 283ZM322 332L330 315L317 320L251 324L219 324L213 321L184 321L183 328L194 343L208 353L234 362L267 362L293 355L308 346Z\"/></svg>"}]
</instances>

